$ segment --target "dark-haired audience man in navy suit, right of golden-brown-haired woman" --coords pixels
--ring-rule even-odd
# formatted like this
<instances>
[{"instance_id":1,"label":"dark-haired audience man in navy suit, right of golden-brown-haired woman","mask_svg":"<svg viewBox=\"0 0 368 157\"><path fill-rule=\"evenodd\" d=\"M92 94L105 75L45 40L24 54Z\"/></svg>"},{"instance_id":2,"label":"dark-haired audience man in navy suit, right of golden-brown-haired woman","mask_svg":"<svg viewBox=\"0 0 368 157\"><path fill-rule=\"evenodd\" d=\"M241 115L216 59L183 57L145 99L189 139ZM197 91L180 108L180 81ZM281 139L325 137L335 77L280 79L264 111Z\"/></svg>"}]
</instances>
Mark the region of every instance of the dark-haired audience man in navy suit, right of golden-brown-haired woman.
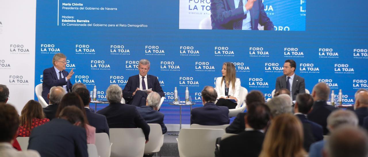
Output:
<instances>
[{"instance_id":1,"label":"dark-haired audience man in navy suit, right of golden-brown-haired woman","mask_svg":"<svg viewBox=\"0 0 368 157\"><path fill-rule=\"evenodd\" d=\"M294 106L294 115L303 124L304 149L309 151L312 143L323 139L322 126L307 119L308 112L312 109L313 98L309 94L298 94Z\"/></svg>"}]
</instances>

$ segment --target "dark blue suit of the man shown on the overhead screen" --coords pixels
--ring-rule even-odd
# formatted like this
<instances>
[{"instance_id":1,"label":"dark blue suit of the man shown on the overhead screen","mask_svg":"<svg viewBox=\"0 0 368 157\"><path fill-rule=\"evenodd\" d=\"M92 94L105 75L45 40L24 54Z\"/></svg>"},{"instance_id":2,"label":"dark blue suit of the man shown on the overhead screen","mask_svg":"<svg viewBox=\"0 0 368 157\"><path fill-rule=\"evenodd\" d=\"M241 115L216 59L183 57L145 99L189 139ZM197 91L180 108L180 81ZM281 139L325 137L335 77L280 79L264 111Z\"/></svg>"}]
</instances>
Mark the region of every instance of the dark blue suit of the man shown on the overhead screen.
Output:
<instances>
[{"instance_id":1,"label":"dark blue suit of the man shown on the overhead screen","mask_svg":"<svg viewBox=\"0 0 368 157\"><path fill-rule=\"evenodd\" d=\"M264 26L264 30L274 30L261 0L255 1L248 11L252 30L258 30L258 23ZM235 8L234 0L211 0L212 29L234 29L234 23L245 18L243 7Z\"/></svg>"}]
</instances>

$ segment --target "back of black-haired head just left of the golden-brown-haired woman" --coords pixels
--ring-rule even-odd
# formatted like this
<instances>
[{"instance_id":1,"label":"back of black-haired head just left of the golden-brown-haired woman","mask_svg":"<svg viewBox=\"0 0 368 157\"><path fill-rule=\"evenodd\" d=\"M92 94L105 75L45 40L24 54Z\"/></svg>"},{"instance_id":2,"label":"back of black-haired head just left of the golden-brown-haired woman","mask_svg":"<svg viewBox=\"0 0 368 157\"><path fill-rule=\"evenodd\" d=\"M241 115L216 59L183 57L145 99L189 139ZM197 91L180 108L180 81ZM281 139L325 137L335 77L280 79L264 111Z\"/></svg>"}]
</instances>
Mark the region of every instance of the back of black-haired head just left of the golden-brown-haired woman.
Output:
<instances>
[{"instance_id":1,"label":"back of black-haired head just left of the golden-brown-haired woman","mask_svg":"<svg viewBox=\"0 0 368 157\"><path fill-rule=\"evenodd\" d=\"M264 129L270 120L271 112L262 102L253 102L248 106L246 121L254 129Z\"/></svg>"}]
</instances>

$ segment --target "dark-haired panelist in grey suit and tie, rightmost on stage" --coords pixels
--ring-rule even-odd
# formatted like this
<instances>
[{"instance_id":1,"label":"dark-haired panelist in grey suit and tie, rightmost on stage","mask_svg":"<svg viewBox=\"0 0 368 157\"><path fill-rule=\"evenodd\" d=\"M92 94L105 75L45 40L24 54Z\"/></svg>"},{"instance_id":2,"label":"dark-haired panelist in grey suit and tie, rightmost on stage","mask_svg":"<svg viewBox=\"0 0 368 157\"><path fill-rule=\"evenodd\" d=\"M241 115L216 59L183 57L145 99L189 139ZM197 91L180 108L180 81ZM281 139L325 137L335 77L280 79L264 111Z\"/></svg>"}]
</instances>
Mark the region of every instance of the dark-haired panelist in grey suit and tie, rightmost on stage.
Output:
<instances>
[{"instance_id":1,"label":"dark-haired panelist in grey suit and tie, rightmost on stage","mask_svg":"<svg viewBox=\"0 0 368 157\"><path fill-rule=\"evenodd\" d=\"M297 64L294 60L289 59L284 63L283 76L277 77L275 92L282 88L286 88L290 91L290 96L295 100L297 94L305 93L304 78L295 74Z\"/></svg>"}]
</instances>

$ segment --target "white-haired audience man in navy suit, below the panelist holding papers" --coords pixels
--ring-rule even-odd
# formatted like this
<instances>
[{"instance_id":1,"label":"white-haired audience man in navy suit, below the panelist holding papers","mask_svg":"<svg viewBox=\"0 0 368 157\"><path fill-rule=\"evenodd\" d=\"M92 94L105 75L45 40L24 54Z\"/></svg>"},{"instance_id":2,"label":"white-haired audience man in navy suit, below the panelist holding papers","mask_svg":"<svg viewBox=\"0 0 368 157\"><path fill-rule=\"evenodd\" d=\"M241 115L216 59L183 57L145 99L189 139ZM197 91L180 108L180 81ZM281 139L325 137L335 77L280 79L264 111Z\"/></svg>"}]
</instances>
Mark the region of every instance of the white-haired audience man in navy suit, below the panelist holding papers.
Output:
<instances>
[{"instance_id":1,"label":"white-haired audience man in navy suit, below the panelist holding papers","mask_svg":"<svg viewBox=\"0 0 368 157\"><path fill-rule=\"evenodd\" d=\"M163 123L164 114L157 111L160 101L161 96L157 92L151 92L147 96L146 106L139 106L137 110L147 123L160 124L162 134L165 134L167 128Z\"/></svg>"}]
</instances>

